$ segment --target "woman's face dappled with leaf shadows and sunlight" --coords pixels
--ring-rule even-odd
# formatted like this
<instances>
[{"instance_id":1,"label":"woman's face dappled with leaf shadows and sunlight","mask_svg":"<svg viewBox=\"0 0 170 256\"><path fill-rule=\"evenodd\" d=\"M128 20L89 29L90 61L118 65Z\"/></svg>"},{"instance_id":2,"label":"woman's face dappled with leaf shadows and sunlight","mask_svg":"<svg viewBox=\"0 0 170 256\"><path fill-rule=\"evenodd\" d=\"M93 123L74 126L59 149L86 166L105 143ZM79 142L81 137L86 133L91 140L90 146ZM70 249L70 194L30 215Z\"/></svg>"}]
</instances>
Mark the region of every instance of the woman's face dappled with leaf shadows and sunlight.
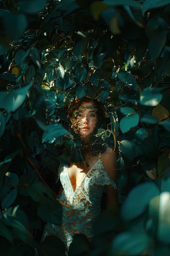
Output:
<instances>
[{"instance_id":1,"label":"woman's face dappled with leaf shadows and sunlight","mask_svg":"<svg viewBox=\"0 0 170 256\"><path fill-rule=\"evenodd\" d=\"M87 136L93 134L97 125L97 108L91 102L83 102L78 109L77 125L79 128L80 136Z\"/></svg>"}]
</instances>

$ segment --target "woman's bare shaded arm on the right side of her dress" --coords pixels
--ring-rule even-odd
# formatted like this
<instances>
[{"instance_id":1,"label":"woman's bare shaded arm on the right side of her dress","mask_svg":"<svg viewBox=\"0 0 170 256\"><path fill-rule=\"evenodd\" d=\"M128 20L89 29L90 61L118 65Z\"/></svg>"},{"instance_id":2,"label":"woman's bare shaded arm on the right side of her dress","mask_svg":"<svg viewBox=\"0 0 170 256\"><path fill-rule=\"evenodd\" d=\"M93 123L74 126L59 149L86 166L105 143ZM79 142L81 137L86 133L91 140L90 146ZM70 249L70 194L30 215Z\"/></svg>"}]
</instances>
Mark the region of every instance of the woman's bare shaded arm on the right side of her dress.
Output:
<instances>
[{"instance_id":1,"label":"woman's bare shaded arm on the right side of her dress","mask_svg":"<svg viewBox=\"0 0 170 256\"><path fill-rule=\"evenodd\" d=\"M101 155L101 160L110 179L115 182L115 177L117 175L116 153L113 153L111 148L107 148L106 151ZM118 204L118 191L117 189L114 189L113 186L107 186L107 200L108 207Z\"/></svg>"}]
</instances>

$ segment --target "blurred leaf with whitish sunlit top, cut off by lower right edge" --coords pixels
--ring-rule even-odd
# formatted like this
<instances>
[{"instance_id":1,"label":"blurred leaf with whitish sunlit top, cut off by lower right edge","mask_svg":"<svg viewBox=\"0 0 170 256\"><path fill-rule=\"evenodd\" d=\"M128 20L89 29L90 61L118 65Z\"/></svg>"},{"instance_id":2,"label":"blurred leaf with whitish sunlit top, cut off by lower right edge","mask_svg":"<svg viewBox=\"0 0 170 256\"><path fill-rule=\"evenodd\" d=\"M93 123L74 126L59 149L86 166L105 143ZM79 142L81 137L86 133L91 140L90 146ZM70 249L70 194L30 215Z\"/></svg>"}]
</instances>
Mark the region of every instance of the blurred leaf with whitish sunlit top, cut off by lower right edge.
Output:
<instances>
[{"instance_id":1,"label":"blurred leaf with whitish sunlit top, cut off by lower right edge","mask_svg":"<svg viewBox=\"0 0 170 256\"><path fill-rule=\"evenodd\" d=\"M159 241L170 244L170 192L162 192L159 196L159 221L157 238Z\"/></svg>"}]
</instances>

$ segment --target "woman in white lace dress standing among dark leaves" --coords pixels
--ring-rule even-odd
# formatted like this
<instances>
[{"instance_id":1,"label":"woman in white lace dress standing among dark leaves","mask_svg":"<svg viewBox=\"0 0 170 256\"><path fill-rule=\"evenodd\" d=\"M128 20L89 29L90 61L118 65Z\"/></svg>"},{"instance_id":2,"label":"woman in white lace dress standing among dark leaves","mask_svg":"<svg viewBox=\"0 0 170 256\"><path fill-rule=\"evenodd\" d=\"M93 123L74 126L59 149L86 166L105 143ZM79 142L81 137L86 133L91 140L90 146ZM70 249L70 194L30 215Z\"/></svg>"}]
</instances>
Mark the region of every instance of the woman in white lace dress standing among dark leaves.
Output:
<instances>
[{"instance_id":1,"label":"woman in white lace dress standing among dark leaves","mask_svg":"<svg viewBox=\"0 0 170 256\"><path fill-rule=\"evenodd\" d=\"M93 238L93 223L100 214L101 197L107 185L108 206L117 203L116 155L111 148L97 144L94 150L95 134L101 128L105 115L101 105L88 97L75 101L70 108L68 118L75 132L83 141L82 161L60 166L62 183L58 198L67 205L63 206L62 226L46 224L43 237L58 236L66 245L66 252L75 234L85 235L89 241Z\"/></svg>"}]
</instances>

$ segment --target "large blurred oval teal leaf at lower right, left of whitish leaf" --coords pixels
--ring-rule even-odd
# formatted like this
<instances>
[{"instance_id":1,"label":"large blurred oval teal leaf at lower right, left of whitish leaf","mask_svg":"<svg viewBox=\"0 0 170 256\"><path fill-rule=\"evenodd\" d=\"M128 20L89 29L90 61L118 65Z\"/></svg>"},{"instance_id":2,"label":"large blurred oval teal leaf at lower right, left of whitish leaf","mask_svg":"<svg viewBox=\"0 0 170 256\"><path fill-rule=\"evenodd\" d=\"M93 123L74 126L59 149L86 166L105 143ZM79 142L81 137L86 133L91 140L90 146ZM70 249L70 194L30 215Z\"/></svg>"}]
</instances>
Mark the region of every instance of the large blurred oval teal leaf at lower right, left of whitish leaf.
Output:
<instances>
[{"instance_id":1,"label":"large blurred oval teal leaf at lower right, left of whitish leaf","mask_svg":"<svg viewBox=\"0 0 170 256\"><path fill-rule=\"evenodd\" d=\"M153 182L144 182L135 186L121 207L121 218L131 221L139 217L147 209L150 200L159 195L159 189Z\"/></svg>"}]
</instances>

